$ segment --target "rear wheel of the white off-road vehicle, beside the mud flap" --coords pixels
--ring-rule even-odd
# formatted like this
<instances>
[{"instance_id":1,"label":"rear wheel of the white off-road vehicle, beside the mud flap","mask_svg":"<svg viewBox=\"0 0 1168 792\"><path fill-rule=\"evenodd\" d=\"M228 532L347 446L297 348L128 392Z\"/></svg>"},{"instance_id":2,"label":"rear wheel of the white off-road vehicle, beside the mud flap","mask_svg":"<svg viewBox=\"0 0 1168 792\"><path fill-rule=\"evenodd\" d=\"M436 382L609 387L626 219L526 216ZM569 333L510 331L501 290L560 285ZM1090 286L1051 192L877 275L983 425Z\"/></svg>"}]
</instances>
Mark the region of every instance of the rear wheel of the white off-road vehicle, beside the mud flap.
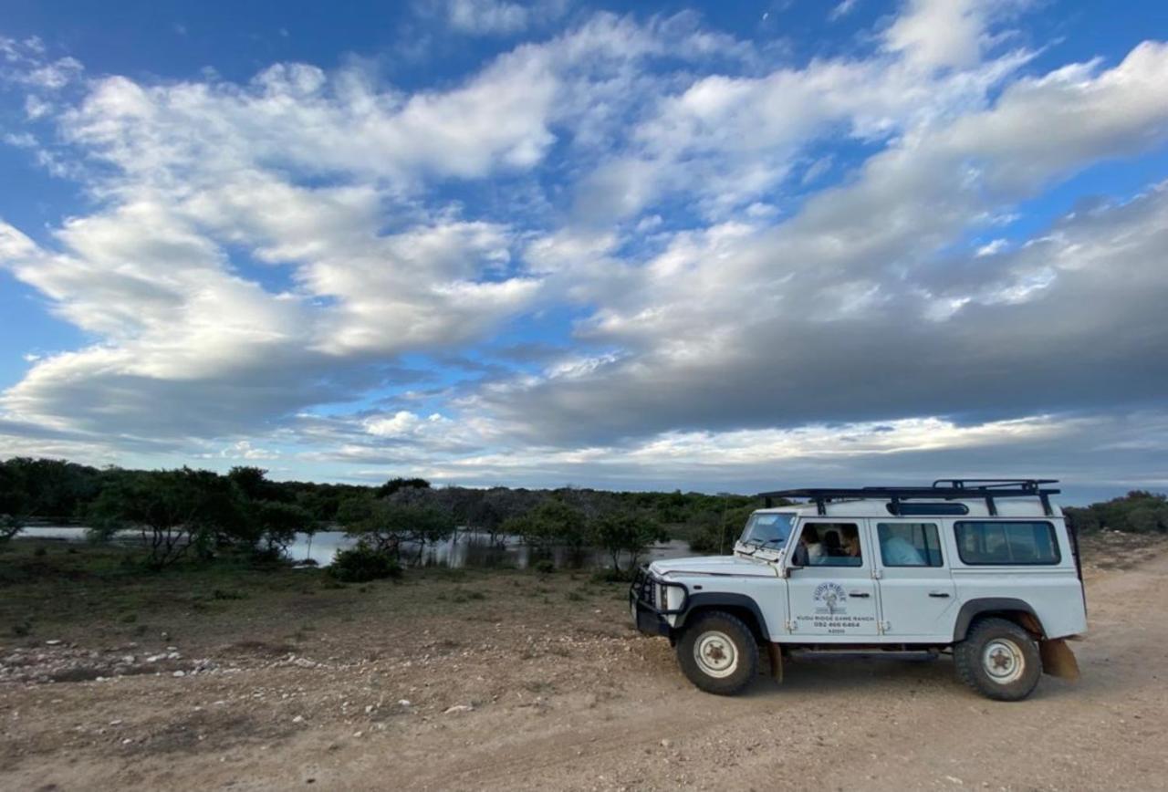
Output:
<instances>
[{"instance_id":1,"label":"rear wheel of the white off-road vehicle, beside the mud flap","mask_svg":"<svg viewBox=\"0 0 1168 792\"><path fill-rule=\"evenodd\" d=\"M1042 676L1038 644L1006 619L974 621L965 640L953 647L958 679L996 701L1021 701Z\"/></svg>"}]
</instances>

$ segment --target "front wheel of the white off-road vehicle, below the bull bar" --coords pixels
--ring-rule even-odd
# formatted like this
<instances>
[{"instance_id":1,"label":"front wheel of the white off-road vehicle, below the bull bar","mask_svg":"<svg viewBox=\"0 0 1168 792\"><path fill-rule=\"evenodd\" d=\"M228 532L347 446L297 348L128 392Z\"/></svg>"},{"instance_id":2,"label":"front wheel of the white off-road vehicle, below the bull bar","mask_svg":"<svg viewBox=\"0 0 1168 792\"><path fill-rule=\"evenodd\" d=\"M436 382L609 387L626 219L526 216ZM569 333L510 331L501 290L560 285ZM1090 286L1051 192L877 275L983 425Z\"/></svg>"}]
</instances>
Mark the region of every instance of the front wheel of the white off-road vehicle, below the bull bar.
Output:
<instances>
[{"instance_id":1,"label":"front wheel of the white off-road vehicle, below the bull bar","mask_svg":"<svg viewBox=\"0 0 1168 792\"><path fill-rule=\"evenodd\" d=\"M742 619L709 611L686 626L677 641L677 662L702 690L732 696L758 673L758 644Z\"/></svg>"}]
</instances>

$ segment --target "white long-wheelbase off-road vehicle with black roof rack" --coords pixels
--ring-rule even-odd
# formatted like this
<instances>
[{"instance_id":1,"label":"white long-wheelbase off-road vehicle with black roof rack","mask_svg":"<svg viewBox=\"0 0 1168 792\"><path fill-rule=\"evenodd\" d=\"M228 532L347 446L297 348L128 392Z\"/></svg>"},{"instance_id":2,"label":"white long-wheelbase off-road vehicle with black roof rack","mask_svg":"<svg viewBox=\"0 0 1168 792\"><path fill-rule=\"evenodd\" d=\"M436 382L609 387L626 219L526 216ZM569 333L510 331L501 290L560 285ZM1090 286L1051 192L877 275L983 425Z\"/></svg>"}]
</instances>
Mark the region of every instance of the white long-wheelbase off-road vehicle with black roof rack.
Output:
<instances>
[{"instance_id":1,"label":"white long-wheelbase off-road vehicle with black roof rack","mask_svg":"<svg viewBox=\"0 0 1168 792\"><path fill-rule=\"evenodd\" d=\"M793 652L919 651L952 652L964 682L1017 701L1044 671L1078 676L1063 639L1086 630L1078 543L1050 484L765 493L732 556L642 568L633 621L710 693L742 690L760 648L779 680Z\"/></svg>"}]
</instances>

